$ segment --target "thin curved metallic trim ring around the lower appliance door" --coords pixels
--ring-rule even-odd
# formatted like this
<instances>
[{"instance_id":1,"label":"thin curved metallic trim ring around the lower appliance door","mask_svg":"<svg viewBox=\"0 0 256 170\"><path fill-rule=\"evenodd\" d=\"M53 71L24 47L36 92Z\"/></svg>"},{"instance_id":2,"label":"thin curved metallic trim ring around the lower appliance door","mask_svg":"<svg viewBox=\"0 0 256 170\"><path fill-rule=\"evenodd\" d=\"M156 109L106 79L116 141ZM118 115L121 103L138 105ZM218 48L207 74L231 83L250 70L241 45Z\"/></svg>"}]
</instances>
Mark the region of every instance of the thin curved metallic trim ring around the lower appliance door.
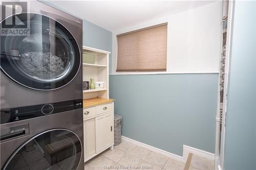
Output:
<instances>
[{"instance_id":1,"label":"thin curved metallic trim ring around the lower appliance door","mask_svg":"<svg viewBox=\"0 0 256 170\"><path fill-rule=\"evenodd\" d=\"M42 135L42 134L44 134L44 133L47 133L47 132L50 132L50 131L55 131L55 130L66 130L66 131L69 131L69 132L75 134L75 133L74 133L73 131L71 131L71 130L62 129L62 128L51 129L51 130L47 130L47 131L41 132L41 133L39 133L39 134L33 136L33 137L30 138L29 140L27 140L25 143L23 143L23 144L11 155L10 158L8 159L8 161L5 163L5 165L4 165L4 167L3 167L3 170L6 169L7 165L10 163L11 159L12 159L12 158L18 153L18 151L19 151L20 149L22 149L28 142L30 142L30 141L33 140L34 138L36 138L36 137L38 137L38 136L40 136L40 135ZM75 134L75 135L76 135L76 134ZM81 157L80 157L80 161L79 161L79 163L78 163L78 165L79 165L79 164L81 163L81 159L82 159L82 151L83 151L83 148L82 148L82 143L81 143L80 138L79 138L77 135L76 135L76 137L79 139L80 144L81 144ZM77 168L78 168L78 165L77 165ZM76 168L76 170L77 170L77 168Z\"/></svg>"}]
</instances>

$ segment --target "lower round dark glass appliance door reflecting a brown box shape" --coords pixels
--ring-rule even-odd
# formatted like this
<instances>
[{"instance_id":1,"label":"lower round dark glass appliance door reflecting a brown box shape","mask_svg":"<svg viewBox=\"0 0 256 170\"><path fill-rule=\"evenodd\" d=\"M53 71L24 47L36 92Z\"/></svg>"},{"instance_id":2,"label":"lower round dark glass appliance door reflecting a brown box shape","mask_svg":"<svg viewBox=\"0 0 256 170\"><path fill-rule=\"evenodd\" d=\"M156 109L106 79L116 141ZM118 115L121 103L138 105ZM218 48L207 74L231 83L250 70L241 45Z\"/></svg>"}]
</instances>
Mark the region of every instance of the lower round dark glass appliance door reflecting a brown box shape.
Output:
<instances>
[{"instance_id":1,"label":"lower round dark glass appliance door reflecting a brown box shape","mask_svg":"<svg viewBox=\"0 0 256 170\"><path fill-rule=\"evenodd\" d=\"M79 138L69 130L46 131L19 147L3 170L77 169L82 155L81 147Z\"/></svg>"}]
</instances>

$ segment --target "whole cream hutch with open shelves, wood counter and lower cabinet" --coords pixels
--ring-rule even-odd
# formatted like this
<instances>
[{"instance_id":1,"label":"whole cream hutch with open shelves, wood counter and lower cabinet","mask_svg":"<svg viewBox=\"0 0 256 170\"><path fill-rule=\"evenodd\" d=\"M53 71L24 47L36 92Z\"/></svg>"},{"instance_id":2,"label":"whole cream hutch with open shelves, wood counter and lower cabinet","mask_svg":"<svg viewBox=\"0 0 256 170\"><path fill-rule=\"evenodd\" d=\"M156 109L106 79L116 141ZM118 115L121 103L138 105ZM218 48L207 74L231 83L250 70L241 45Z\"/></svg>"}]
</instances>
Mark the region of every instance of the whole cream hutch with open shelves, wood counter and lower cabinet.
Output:
<instances>
[{"instance_id":1,"label":"whole cream hutch with open shelves, wood counter and lower cabinet","mask_svg":"<svg viewBox=\"0 0 256 170\"><path fill-rule=\"evenodd\" d=\"M103 88L83 90L84 162L114 149L114 100L109 99L110 52L83 46L82 79L104 82Z\"/></svg>"}]
</instances>

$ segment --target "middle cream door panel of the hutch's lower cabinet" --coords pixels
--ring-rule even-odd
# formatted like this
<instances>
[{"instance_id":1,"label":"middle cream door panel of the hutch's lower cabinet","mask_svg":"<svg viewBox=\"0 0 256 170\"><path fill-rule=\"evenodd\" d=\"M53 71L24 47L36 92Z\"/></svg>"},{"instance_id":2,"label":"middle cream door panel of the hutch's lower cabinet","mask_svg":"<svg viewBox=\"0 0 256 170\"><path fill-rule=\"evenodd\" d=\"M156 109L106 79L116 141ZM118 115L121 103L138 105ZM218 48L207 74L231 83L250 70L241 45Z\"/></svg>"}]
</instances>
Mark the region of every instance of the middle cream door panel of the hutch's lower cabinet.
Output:
<instances>
[{"instance_id":1,"label":"middle cream door panel of the hutch's lower cabinet","mask_svg":"<svg viewBox=\"0 0 256 170\"><path fill-rule=\"evenodd\" d=\"M105 116L95 118L96 125L96 153L105 148Z\"/></svg>"}]
</instances>

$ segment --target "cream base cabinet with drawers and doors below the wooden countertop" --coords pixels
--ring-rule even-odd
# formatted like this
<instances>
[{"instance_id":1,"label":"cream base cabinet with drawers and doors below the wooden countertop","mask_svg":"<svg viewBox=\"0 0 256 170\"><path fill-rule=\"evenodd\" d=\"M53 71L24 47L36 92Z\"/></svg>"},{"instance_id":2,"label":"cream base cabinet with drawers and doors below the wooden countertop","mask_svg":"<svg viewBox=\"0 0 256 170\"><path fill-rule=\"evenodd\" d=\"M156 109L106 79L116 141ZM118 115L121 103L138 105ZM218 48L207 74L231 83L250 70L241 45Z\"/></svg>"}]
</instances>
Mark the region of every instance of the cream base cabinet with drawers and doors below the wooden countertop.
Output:
<instances>
[{"instance_id":1,"label":"cream base cabinet with drawers and doors below the wooden countertop","mask_svg":"<svg viewBox=\"0 0 256 170\"><path fill-rule=\"evenodd\" d=\"M100 108L109 109L102 113ZM98 108L98 109L97 109ZM84 109L84 162L98 155L102 151L114 146L114 103L98 105ZM107 110L105 109L105 110ZM88 114L96 114L88 117ZM89 111L90 113L86 113ZM99 113L98 113L99 112Z\"/></svg>"}]
</instances>

